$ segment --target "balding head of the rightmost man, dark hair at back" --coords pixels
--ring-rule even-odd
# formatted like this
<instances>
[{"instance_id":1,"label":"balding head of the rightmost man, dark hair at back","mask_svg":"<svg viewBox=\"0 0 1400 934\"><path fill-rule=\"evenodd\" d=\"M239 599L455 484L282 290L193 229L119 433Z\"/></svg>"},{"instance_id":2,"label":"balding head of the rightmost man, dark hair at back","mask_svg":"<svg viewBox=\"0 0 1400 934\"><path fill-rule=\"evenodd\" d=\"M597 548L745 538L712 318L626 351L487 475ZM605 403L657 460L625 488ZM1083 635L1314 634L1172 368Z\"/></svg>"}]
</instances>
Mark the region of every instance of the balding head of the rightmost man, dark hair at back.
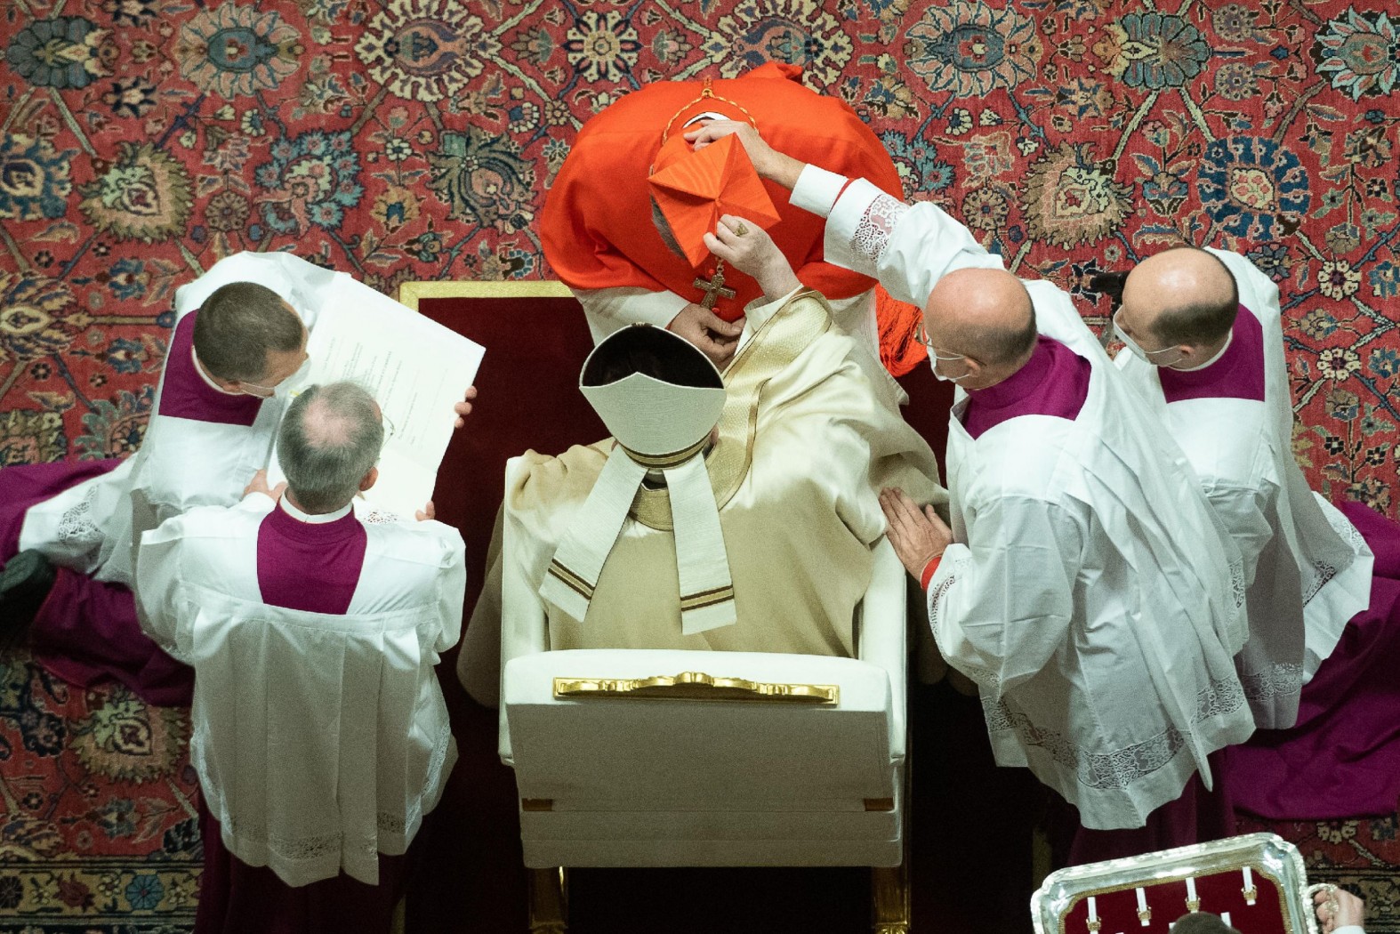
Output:
<instances>
[{"instance_id":1,"label":"balding head of the rightmost man, dark hair at back","mask_svg":"<svg viewBox=\"0 0 1400 934\"><path fill-rule=\"evenodd\" d=\"M1239 290L1229 266L1196 246L1144 259L1123 284L1128 328L1163 347L1218 344L1235 323Z\"/></svg>"}]
</instances>

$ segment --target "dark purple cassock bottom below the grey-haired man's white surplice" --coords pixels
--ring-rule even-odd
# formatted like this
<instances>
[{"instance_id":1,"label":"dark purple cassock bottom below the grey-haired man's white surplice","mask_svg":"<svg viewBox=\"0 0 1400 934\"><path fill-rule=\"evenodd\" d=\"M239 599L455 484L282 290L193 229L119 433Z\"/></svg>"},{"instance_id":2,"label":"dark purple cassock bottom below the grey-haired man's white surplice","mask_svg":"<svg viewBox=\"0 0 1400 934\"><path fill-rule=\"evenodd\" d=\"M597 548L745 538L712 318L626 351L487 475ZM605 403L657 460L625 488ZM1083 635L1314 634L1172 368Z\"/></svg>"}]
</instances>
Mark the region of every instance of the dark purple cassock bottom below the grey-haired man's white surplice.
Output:
<instances>
[{"instance_id":1,"label":"dark purple cassock bottom below the grey-haired man's white surplice","mask_svg":"<svg viewBox=\"0 0 1400 934\"><path fill-rule=\"evenodd\" d=\"M386 934L407 884L409 857L379 854L379 885L344 872L291 886L267 867L248 865L224 846L218 821L199 802L204 872L195 934Z\"/></svg>"}]
</instances>

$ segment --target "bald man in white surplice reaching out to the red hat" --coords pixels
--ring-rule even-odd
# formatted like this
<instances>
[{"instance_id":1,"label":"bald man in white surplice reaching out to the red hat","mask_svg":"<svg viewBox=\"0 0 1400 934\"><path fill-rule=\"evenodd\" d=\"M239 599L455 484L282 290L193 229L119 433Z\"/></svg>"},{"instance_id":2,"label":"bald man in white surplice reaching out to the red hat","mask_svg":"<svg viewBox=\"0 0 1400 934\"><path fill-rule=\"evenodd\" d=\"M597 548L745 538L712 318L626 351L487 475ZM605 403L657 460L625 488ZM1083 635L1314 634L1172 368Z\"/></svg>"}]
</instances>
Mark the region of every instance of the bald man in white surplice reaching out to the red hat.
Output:
<instances>
[{"instance_id":1,"label":"bald man in white surplice reaching out to the red hat","mask_svg":"<svg viewBox=\"0 0 1400 934\"><path fill-rule=\"evenodd\" d=\"M1142 828L1084 833L1075 861L1231 833L1193 776L1210 783L1207 758L1253 730L1232 661L1239 553L1070 297L1005 272L934 204L802 165L738 125L692 139L727 132L826 217L827 262L924 308L934 372L959 385L952 528L900 490L882 506L939 648L979 685L997 762L1029 766L1082 828Z\"/></svg>"}]
</instances>

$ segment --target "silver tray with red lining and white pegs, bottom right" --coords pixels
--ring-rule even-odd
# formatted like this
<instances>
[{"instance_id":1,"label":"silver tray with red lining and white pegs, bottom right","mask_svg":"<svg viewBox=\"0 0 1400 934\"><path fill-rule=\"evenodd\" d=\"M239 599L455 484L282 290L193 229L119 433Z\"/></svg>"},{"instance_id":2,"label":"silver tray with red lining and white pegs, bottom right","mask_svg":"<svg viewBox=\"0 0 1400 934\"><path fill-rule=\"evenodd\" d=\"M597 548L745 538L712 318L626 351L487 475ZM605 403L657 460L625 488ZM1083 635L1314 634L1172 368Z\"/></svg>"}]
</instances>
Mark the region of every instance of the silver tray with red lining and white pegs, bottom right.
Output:
<instances>
[{"instance_id":1,"label":"silver tray with red lining and white pegs, bottom right","mask_svg":"<svg viewBox=\"0 0 1400 934\"><path fill-rule=\"evenodd\" d=\"M1273 833L1057 870L1030 898L1036 934L1169 934L1210 912L1242 934L1317 934L1298 847Z\"/></svg>"}]
</instances>

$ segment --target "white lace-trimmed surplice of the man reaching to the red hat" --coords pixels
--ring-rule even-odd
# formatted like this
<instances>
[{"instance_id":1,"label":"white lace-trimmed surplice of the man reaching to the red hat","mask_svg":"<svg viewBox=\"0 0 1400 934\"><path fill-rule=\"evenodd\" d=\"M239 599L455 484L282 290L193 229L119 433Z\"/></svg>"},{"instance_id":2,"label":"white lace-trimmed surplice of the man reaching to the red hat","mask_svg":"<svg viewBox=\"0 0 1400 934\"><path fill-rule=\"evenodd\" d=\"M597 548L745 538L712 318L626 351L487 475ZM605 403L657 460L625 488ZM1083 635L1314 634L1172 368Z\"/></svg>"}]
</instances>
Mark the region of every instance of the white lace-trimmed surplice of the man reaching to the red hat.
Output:
<instances>
[{"instance_id":1,"label":"white lace-trimmed surplice of the man reaching to the red hat","mask_svg":"<svg viewBox=\"0 0 1400 934\"><path fill-rule=\"evenodd\" d=\"M829 213L827 259L874 270L896 298L923 304L952 269L1001 267L932 204L861 182L837 200L844 179L812 169L804 182L794 202ZM1207 755L1253 730L1232 662L1243 567L1068 295L1026 286L1040 332L1091 363L1088 398L1074 421L1021 416L976 440L952 420L956 543L930 583L930 619L979 683L1000 765L1029 766L1086 828L1141 826L1193 772L1210 784Z\"/></svg>"}]
</instances>

